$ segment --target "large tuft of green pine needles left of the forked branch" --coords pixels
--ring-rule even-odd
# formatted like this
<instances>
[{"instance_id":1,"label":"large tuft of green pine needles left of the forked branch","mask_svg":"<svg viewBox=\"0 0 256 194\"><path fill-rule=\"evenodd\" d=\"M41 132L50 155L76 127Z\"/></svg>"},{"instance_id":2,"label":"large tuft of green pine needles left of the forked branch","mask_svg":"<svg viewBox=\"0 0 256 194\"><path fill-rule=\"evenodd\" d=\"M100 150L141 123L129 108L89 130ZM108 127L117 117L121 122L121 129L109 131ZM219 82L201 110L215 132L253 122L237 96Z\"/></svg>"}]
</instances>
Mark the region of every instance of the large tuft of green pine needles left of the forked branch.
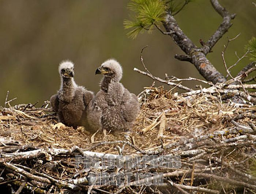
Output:
<instances>
[{"instance_id":1,"label":"large tuft of green pine needles left of the forked branch","mask_svg":"<svg viewBox=\"0 0 256 194\"><path fill-rule=\"evenodd\" d=\"M135 39L139 32L152 32L165 17L164 0L131 0L128 9L135 13L133 20L124 20L124 28L131 29L128 37Z\"/></svg>"}]
</instances>

